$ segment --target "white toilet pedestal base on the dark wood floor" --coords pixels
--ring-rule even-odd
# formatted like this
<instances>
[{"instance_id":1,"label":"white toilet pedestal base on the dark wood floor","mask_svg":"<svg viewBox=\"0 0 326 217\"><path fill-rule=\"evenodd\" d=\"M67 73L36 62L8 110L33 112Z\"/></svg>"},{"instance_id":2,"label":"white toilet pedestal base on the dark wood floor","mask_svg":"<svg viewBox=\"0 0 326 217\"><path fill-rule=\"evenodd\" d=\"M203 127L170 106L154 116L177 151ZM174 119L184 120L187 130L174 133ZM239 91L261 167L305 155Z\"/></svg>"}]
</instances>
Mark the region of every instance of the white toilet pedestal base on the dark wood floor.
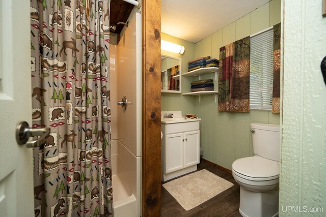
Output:
<instances>
[{"instance_id":1,"label":"white toilet pedestal base on the dark wood floor","mask_svg":"<svg viewBox=\"0 0 326 217\"><path fill-rule=\"evenodd\" d=\"M279 188L261 193L240 187L239 212L244 217L277 216L279 214Z\"/></svg>"}]
</instances>

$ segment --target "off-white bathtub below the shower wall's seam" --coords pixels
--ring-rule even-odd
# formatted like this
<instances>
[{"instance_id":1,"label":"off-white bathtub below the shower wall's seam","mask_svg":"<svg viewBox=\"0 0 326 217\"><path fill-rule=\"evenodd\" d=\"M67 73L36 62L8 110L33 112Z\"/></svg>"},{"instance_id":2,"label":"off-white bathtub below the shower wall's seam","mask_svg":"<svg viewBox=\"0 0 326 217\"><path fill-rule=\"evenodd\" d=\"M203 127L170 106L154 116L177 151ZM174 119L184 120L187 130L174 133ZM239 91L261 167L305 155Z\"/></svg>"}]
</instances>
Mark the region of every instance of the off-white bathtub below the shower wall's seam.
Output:
<instances>
[{"instance_id":1,"label":"off-white bathtub below the shower wall's seam","mask_svg":"<svg viewBox=\"0 0 326 217\"><path fill-rule=\"evenodd\" d=\"M114 216L141 216L140 157L135 157L119 140L112 140L111 166Z\"/></svg>"}]
</instances>

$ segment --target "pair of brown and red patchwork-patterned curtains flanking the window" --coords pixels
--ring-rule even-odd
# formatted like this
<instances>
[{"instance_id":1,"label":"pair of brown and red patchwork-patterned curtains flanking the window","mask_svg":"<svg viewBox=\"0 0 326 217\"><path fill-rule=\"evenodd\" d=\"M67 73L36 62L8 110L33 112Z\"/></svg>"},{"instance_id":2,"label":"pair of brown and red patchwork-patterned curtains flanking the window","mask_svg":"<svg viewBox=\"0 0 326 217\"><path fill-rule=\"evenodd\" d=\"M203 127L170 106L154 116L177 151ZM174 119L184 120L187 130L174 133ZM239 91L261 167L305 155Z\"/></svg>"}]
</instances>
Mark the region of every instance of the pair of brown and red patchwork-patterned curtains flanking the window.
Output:
<instances>
[{"instance_id":1,"label":"pair of brown and red patchwork-patterned curtains flanking the window","mask_svg":"<svg viewBox=\"0 0 326 217\"><path fill-rule=\"evenodd\" d=\"M280 113L281 23L274 25L272 112ZM220 48L219 111L249 112L250 37Z\"/></svg>"}]
</instances>

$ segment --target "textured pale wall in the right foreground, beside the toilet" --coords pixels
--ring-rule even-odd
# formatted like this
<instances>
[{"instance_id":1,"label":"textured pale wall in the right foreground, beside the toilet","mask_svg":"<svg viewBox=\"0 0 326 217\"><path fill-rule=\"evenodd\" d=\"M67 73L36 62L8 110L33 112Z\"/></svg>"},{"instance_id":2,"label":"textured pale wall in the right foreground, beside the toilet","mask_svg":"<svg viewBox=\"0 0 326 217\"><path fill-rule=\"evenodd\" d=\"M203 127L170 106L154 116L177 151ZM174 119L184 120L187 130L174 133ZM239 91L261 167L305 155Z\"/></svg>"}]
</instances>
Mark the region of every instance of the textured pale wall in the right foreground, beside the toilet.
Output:
<instances>
[{"instance_id":1,"label":"textured pale wall in the right foreground, beside the toilet","mask_svg":"<svg viewBox=\"0 0 326 217\"><path fill-rule=\"evenodd\" d=\"M326 55L326 18L321 7L322 1L282 0L280 216L326 215L326 86L320 72ZM305 208L323 212L308 214Z\"/></svg>"}]
</instances>

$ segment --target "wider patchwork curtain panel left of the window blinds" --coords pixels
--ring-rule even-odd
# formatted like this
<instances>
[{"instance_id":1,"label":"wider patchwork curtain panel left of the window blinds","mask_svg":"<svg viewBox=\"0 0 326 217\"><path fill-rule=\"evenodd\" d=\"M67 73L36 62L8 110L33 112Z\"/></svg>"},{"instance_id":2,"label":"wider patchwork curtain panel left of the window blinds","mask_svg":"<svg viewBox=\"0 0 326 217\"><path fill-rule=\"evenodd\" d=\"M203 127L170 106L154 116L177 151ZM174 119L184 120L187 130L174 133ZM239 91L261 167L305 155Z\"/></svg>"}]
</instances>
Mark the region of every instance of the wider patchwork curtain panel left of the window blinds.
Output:
<instances>
[{"instance_id":1,"label":"wider patchwork curtain panel left of the window blinds","mask_svg":"<svg viewBox=\"0 0 326 217\"><path fill-rule=\"evenodd\" d=\"M219 111L249 112L250 37L220 48Z\"/></svg>"}]
</instances>

